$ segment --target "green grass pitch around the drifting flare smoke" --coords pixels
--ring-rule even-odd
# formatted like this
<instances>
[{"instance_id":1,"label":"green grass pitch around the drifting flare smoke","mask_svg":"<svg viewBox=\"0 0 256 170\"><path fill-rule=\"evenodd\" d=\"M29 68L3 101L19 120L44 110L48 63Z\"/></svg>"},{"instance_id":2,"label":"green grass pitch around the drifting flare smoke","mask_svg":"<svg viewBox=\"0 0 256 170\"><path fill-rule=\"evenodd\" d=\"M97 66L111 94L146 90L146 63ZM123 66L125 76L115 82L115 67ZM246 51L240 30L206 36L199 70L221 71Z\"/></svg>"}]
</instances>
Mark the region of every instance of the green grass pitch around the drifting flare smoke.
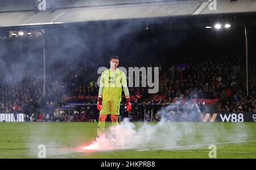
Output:
<instances>
[{"instance_id":1,"label":"green grass pitch around the drifting flare smoke","mask_svg":"<svg viewBox=\"0 0 256 170\"><path fill-rule=\"evenodd\" d=\"M172 123L172 122L168 122ZM135 123L137 127L143 123ZM154 126L156 123L150 123ZM179 127L182 123L174 123ZM237 124L242 124L246 129L246 139L232 138L236 134L234 128ZM106 123L106 127L111 125ZM54 122L54 123L0 123L0 158L38 158L38 146L46 146L47 158L209 158L210 149L208 143L201 139L208 136L201 136L202 130L214 132L219 136L217 141L212 142L217 147L217 158L256 158L256 123L188 123L196 131L193 136L195 141L186 134L180 141L180 146L169 150L155 149L148 147L148 150L139 148L129 150L81 152L77 147L86 146L96 137L97 122ZM222 126L225 134L221 130L215 130ZM202 128L203 127L203 128ZM230 134L226 132L230 131ZM204 133L205 134L205 133ZM224 140L225 136L230 136L230 141ZM222 138L223 136L223 138ZM223 140L222 140L223 139ZM160 140L160 139L159 139ZM161 148L161 146L159 146Z\"/></svg>"}]
</instances>

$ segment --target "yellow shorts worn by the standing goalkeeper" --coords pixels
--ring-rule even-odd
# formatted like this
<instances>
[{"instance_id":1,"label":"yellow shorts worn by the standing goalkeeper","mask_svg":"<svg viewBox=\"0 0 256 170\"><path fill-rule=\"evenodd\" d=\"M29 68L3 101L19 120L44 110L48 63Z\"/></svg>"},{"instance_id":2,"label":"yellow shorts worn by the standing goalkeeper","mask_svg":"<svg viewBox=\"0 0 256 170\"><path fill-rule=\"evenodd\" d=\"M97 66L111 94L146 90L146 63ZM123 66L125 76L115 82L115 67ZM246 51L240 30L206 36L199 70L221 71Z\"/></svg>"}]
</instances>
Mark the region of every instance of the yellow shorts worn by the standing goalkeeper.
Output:
<instances>
[{"instance_id":1,"label":"yellow shorts worn by the standing goalkeeper","mask_svg":"<svg viewBox=\"0 0 256 170\"><path fill-rule=\"evenodd\" d=\"M102 101L100 114L119 115L120 101Z\"/></svg>"}]
</instances>

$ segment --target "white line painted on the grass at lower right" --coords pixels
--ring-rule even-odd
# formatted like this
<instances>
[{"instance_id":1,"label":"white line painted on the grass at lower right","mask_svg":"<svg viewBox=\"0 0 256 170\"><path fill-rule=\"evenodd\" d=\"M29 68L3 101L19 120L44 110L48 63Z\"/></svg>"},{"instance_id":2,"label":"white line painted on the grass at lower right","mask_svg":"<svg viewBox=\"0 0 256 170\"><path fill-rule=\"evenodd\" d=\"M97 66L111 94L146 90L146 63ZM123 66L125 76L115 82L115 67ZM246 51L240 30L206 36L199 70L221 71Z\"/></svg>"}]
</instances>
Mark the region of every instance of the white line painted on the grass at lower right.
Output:
<instances>
[{"instance_id":1,"label":"white line painted on the grass at lower right","mask_svg":"<svg viewBox=\"0 0 256 170\"><path fill-rule=\"evenodd\" d=\"M174 147L152 148L152 149L135 150L135 151L166 150L166 149L173 149L173 148L196 147L196 146L209 146L210 144L228 144L228 143L243 143L243 142L256 142L256 140L241 140L241 141L234 141L234 142L192 144L192 145L187 145L187 146L174 146Z\"/></svg>"}]
</instances>

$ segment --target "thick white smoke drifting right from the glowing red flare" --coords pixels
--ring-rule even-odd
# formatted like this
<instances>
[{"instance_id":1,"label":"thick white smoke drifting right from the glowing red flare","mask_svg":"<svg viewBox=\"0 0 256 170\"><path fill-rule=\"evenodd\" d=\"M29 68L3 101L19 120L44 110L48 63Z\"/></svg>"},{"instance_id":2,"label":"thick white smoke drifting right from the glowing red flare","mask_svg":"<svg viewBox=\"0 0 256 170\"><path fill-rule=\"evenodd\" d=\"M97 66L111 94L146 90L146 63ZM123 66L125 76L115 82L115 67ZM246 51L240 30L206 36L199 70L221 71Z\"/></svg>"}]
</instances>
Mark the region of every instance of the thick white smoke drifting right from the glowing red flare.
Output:
<instances>
[{"instance_id":1,"label":"thick white smoke drifting right from the glowing red flare","mask_svg":"<svg viewBox=\"0 0 256 170\"><path fill-rule=\"evenodd\" d=\"M129 119L124 119L118 126L110 127L105 134L96 139L85 150L170 150L181 146L204 146L218 142L236 142L246 140L249 130L243 123L174 122L177 103L164 107L159 111L162 119L157 123L143 123L136 127ZM193 103L183 105L184 113L179 113L185 121L196 121L198 112L191 111ZM184 108L189 107L189 108ZM187 111L186 111L187 110ZM139 124L138 124L139 125ZM184 147L185 148L185 147Z\"/></svg>"}]
</instances>

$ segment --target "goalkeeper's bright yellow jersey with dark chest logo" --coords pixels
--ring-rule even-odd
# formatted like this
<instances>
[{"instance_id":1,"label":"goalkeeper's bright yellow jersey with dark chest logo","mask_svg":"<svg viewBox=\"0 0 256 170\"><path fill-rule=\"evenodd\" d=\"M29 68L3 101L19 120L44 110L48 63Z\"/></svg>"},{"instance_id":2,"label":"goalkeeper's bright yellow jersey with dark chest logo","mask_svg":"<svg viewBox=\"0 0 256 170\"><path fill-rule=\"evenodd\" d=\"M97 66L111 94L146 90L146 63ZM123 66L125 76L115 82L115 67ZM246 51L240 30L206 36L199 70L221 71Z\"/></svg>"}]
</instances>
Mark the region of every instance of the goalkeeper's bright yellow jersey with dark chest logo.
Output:
<instances>
[{"instance_id":1,"label":"goalkeeper's bright yellow jersey with dark chest logo","mask_svg":"<svg viewBox=\"0 0 256 170\"><path fill-rule=\"evenodd\" d=\"M106 71L101 73L101 86L104 86L102 92L102 101L121 101L122 86L127 87L125 73L118 68L115 71Z\"/></svg>"}]
</instances>

